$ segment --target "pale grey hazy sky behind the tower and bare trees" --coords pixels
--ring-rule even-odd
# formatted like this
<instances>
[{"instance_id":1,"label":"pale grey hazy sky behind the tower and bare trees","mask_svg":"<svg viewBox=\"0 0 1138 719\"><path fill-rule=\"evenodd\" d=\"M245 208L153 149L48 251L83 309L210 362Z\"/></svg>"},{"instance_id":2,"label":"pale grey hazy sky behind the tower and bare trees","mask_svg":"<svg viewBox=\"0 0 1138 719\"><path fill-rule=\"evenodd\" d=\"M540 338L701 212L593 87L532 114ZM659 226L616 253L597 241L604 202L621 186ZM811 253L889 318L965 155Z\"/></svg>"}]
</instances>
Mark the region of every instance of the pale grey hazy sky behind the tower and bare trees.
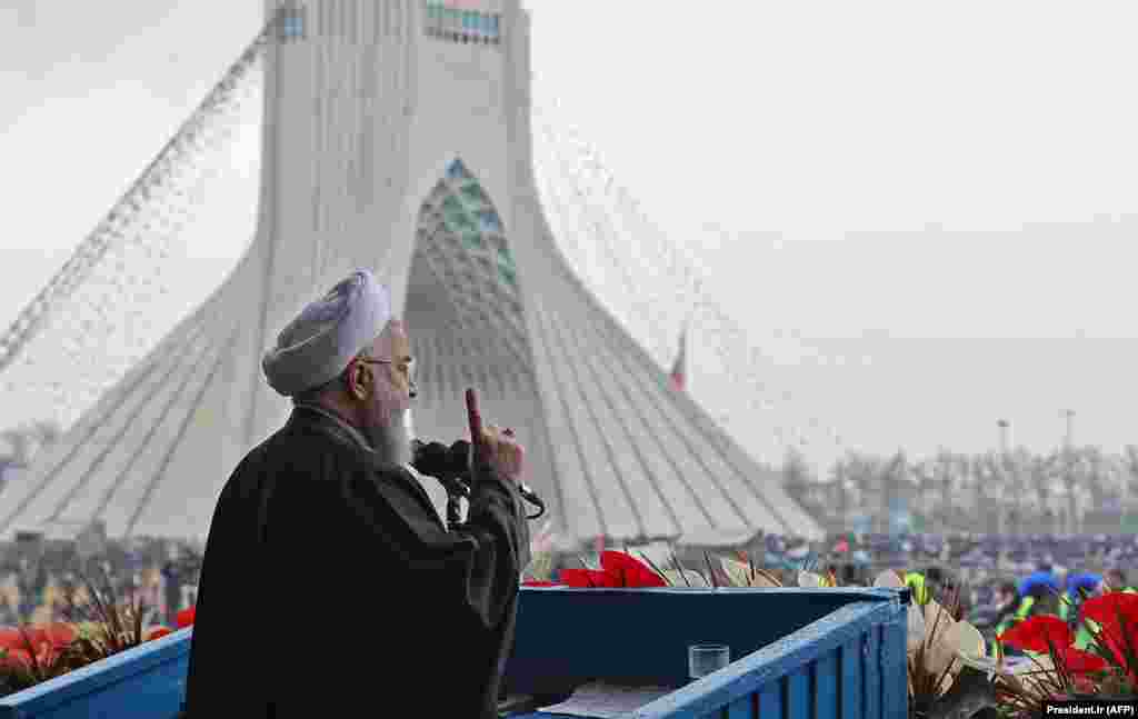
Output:
<instances>
[{"instance_id":1,"label":"pale grey hazy sky behind the tower and bare trees","mask_svg":"<svg viewBox=\"0 0 1138 719\"><path fill-rule=\"evenodd\" d=\"M842 235L1138 212L1132 1L528 6L538 92L700 256L756 342L799 342L781 358L792 390L844 446L980 451L1006 416L1042 451L1064 406L1083 441L1138 443L1135 242ZM0 323L261 19L256 0L0 5ZM248 177L250 148L234 160ZM187 238L206 283L251 231L248 208L218 212L241 231ZM707 223L723 234L694 231Z\"/></svg>"}]
</instances>

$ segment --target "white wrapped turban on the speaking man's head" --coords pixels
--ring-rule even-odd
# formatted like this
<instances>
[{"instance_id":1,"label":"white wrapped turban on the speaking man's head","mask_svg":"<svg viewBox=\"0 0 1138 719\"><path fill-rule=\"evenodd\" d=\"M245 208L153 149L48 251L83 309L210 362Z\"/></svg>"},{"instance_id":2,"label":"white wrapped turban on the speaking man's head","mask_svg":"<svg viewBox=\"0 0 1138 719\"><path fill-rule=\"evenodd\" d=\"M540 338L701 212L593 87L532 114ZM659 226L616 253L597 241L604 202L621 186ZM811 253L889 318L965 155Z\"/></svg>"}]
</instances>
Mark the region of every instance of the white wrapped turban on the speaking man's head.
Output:
<instances>
[{"instance_id":1,"label":"white wrapped turban on the speaking man's head","mask_svg":"<svg viewBox=\"0 0 1138 719\"><path fill-rule=\"evenodd\" d=\"M390 319L387 288L371 272L357 270L281 331L277 347L261 362L270 387L292 397L331 381Z\"/></svg>"}]
</instances>

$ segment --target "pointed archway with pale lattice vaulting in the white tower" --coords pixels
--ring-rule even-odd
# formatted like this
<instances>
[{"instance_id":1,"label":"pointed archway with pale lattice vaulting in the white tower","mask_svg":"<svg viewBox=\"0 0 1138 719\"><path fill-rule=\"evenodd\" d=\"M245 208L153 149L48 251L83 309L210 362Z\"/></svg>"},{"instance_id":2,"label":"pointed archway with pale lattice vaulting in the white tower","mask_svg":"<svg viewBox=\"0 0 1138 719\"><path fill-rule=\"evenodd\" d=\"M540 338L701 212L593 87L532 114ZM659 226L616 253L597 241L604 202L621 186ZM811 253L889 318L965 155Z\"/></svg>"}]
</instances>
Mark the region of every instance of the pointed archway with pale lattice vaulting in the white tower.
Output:
<instances>
[{"instance_id":1,"label":"pointed archway with pale lattice vaulting in the white tower","mask_svg":"<svg viewBox=\"0 0 1138 719\"><path fill-rule=\"evenodd\" d=\"M467 387L478 388L493 421L541 427L505 223L461 159L423 198L414 232L404 316L421 378L415 430L444 441L464 437Z\"/></svg>"}]
</instances>

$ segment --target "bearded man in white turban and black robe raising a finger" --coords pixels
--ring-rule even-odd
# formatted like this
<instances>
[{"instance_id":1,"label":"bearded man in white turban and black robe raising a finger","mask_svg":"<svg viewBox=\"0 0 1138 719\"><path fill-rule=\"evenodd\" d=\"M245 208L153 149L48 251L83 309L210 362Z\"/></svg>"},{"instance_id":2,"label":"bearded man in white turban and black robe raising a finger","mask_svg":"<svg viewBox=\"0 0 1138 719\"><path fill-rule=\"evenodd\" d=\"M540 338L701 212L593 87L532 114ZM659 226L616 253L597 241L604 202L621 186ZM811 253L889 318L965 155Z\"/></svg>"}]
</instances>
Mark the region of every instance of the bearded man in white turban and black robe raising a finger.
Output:
<instances>
[{"instance_id":1,"label":"bearded man in white turban and black robe raising a finger","mask_svg":"<svg viewBox=\"0 0 1138 719\"><path fill-rule=\"evenodd\" d=\"M478 432L467 522L447 531L405 466L409 347L386 288L358 271L265 354L295 407L217 501L189 719L497 716L529 563L523 451L511 430Z\"/></svg>"}]
</instances>

